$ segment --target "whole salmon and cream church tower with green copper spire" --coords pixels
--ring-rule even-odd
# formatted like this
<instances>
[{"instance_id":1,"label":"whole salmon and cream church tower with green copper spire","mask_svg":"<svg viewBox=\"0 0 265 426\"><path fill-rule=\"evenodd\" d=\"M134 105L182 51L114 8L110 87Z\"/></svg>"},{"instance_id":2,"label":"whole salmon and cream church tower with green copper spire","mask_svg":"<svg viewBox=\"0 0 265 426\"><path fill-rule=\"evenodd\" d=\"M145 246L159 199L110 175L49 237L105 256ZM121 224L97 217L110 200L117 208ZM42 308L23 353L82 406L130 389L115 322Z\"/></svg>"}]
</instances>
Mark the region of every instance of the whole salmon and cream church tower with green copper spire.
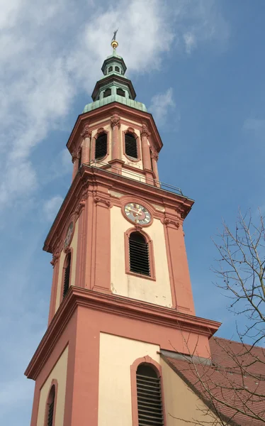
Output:
<instances>
[{"instance_id":1,"label":"whole salmon and cream church tower with green copper spire","mask_svg":"<svg viewBox=\"0 0 265 426\"><path fill-rule=\"evenodd\" d=\"M207 359L220 325L193 307L183 231L193 200L159 181L157 126L112 47L69 136L72 185L44 244L53 279L26 369L31 426L176 425L161 354Z\"/></svg>"}]
</instances>

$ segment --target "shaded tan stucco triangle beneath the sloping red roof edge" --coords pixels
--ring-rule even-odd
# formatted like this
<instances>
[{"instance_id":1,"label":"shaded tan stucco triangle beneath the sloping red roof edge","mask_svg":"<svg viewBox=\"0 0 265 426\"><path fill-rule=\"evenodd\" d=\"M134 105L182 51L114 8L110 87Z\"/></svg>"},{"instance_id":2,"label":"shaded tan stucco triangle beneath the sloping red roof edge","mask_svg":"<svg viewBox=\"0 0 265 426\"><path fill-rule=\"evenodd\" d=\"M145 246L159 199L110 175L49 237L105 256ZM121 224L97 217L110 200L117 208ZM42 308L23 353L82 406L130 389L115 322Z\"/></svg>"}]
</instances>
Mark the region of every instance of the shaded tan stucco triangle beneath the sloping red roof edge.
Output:
<instances>
[{"instance_id":1,"label":"shaded tan stucco triangle beneath the sloping red roof edge","mask_svg":"<svg viewBox=\"0 0 265 426\"><path fill-rule=\"evenodd\" d=\"M164 389L164 409L167 426L187 424L213 425L216 419L212 412L197 397L191 388L161 359ZM175 417L175 418L174 418ZM190 423L191 422L191 423Z\"/></svg>"}]
</instances>

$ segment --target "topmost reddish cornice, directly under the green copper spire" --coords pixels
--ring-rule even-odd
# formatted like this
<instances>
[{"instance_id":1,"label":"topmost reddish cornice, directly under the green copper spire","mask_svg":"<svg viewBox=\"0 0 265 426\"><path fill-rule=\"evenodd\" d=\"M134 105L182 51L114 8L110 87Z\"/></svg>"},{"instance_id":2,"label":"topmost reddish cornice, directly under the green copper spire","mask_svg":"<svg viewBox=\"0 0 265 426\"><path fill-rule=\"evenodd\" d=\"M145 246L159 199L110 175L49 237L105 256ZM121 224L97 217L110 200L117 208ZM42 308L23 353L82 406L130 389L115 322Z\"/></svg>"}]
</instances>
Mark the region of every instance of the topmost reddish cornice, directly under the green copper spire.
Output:
<instances>
[{"instance_id":1,"label":"topmost reddish cornice, directly under the green copper spire","mask_svg":"<svg viewBox=\"0 0 265 426\"><path fill-rule=\"evenodd\" d=\"M94 121L99 121L107 117L111 119L111 116L114 114L118 114L120 116L125 115L125 118L128 117L129 120L132 119L133 121L139 121L140 123L147 125L150 133L152 134L154 148L156 149L157 153L159 153L163 143L152 114L149 112L140 111L139 109L135 109L133 107L128 107L128 105L123 105L119 102L111 102L110 104L103 105L103 107L99 107L97 109L93 109L92 111L84 112L84 114L80 114L77 117L77 121L75 122L74 128L72 129L72 132L67 141L67 148L69 149L69 152L72 154L72 152L78 146L79 138L81 137L80 133L88 121L89 126L92 126Z\"/></svg>"}]
</instances>

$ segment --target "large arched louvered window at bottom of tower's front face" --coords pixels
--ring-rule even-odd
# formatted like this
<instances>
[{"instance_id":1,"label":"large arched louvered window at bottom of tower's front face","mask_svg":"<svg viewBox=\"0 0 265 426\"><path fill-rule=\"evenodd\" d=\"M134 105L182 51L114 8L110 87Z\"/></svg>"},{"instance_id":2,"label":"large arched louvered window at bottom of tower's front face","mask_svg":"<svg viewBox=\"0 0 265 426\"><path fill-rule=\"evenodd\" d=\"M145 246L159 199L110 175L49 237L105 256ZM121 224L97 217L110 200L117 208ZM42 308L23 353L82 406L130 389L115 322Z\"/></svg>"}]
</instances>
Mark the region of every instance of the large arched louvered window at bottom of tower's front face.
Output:
<instances>
[{"instance_id":1,"label":"large arched louvered window at bottom of tower's front face","mask_svg":"<svg viewBox=\"0 0 265 426\"><path fill-rule=\"evenodd\" d=\"M140 364L136 383L139 426L163 426L161 383L154 368Z\"/></svg>"}]
</instances>

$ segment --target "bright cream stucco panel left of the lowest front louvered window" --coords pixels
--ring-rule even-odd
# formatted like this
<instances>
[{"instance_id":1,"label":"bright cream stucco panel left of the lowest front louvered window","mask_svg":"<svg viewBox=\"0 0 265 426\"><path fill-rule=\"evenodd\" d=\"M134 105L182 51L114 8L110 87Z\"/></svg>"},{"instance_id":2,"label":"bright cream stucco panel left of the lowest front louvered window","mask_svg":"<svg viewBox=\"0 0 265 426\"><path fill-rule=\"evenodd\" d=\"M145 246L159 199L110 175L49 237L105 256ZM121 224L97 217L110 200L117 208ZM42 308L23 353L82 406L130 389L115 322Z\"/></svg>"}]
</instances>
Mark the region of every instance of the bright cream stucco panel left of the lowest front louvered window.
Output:
<instances>
[{"instance_id":1,"label":"bright cream stucco panel left of the lowest front louvered window","mask_svg":"<svg viewBox=\"0 0 265 426\"><path fill-rule=\"evenodd\" d=\"M132 425L130 366L149 355L159 362L159 346L101 333L98 426Z\"/></svg>"}]
</instances>

